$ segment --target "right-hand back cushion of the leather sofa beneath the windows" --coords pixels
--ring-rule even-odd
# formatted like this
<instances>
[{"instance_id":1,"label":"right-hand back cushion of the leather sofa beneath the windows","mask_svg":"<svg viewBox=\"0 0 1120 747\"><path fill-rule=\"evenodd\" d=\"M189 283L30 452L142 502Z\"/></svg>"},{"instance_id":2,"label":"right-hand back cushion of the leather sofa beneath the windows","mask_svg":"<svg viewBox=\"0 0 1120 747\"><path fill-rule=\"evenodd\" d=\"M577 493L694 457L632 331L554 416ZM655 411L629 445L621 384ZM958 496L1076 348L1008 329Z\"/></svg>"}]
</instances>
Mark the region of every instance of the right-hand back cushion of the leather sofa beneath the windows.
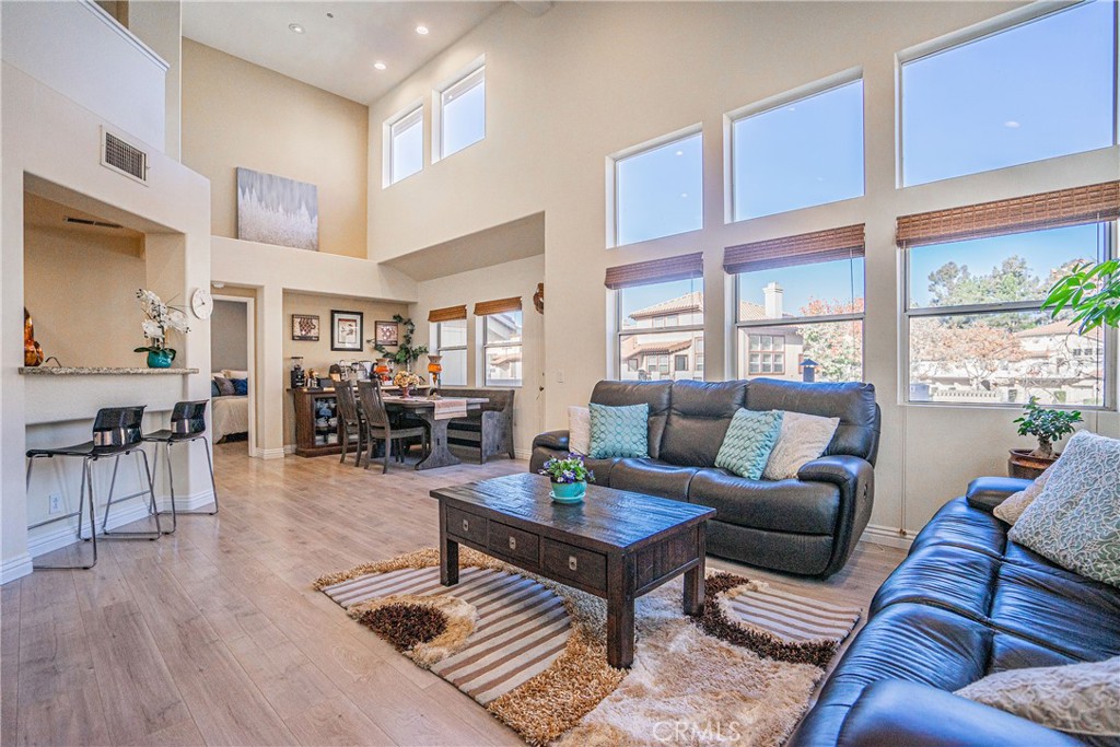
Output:
<instances>
[{"instance_id":1,"label":"right-hand back cushion of the leather sofa beneath the windows","mask_svg":"<svg viewBox=\"0 0 1120 747\"><path fill-rule=\"evenodd\" d=\"M879 447L879 415L875 385L859 382L806 384L776 379L753 379L747 387L747 409L787 410L824 418L840 424L824 454L849 454L872 465Z\"/></svg>"}]
</instances>

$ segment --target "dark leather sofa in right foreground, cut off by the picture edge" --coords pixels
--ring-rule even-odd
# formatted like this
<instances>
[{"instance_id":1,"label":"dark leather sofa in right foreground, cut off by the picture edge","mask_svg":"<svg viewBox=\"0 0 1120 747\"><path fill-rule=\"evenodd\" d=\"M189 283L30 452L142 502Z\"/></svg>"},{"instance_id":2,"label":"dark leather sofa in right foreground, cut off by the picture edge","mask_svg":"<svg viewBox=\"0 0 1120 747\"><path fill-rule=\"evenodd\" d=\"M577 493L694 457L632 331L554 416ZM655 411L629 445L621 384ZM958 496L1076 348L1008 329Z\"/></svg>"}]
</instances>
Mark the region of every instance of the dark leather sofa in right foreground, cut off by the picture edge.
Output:
<instances>
[{"instance_id":1,"label":"dark leather sofa in right foreground, cut off by the picture edge","mask_svg":"<svg viewBox=\"0 0 1120 747\"><path fill-rule=\"evenodd\" d=\"M1009 541L992 516L1028 484L976 479L933 517L786 747L1082 744L952 694L993 672L1120 655L1120 589Z\"/></svg>"}]
</instances>

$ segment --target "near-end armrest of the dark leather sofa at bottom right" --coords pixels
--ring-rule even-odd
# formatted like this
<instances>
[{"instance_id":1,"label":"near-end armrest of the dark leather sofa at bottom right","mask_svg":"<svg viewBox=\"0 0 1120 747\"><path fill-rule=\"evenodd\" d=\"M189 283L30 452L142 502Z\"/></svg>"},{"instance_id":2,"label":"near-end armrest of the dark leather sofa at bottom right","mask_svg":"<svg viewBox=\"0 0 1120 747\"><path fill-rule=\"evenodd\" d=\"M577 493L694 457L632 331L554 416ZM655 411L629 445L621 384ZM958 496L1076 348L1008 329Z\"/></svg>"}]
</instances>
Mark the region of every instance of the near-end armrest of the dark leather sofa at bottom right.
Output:
<instances>
[{"instance_id":1,"label":"near-end armrest of the dark leather sofa at bottom right","mask_svg":"<svg viewBox=\"0 0 1120 747\"><path fill-rule=\"evenodd\" d=\"M904 680L881 680L868 685L851 707L837 740L838 747L1080 744L1034 721Z\"/></svg>"}]
</instances>

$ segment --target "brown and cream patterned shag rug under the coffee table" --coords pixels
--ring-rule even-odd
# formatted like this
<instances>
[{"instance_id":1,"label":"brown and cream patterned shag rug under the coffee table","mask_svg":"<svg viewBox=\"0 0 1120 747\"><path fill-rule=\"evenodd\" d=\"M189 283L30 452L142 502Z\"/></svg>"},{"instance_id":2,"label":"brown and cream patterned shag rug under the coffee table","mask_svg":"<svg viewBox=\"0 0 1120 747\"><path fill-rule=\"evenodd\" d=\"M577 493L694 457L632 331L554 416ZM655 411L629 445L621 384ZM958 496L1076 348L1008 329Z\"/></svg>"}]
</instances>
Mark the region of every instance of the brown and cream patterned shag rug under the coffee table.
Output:
<instances>
[{"instance_id":1,"label":"brown and cream patterned shag rug under the coffee table","mask_svg":"<svg viewBox=\"0 0 1120 747\"><path fill-rule=\"evenodd\" d=\"M606 657L606 603L468 548L459 583L426 549L315 581L347 614L530 745L781 745L859 619L730 573L704 611L681 582L640 597L629 671Z\"/></svg>"}]
</instances>

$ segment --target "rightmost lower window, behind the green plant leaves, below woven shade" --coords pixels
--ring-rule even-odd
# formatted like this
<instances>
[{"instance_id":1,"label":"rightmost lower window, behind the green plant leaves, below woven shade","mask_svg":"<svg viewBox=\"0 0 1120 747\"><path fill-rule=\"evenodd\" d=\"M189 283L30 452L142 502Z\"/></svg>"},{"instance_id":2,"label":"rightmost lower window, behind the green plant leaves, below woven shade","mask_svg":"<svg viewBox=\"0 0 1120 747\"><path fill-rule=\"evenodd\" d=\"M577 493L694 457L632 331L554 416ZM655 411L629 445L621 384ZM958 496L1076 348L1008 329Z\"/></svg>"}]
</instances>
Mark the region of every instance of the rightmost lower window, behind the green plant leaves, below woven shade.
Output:
<instances>
[{"instance_id":1,"label":"rightmost lower window, behind the green plant leaves, below woven shade","mask_svg":"<svg viewBox=\"0 0 1120 747\"><path fill-rule=\"evenodd\" d=\"M1039 311L1073 265L1114 251L1098 223L907 250L909 401L1105 404L1105 335Z\"/></svg>"}]
</instances>

